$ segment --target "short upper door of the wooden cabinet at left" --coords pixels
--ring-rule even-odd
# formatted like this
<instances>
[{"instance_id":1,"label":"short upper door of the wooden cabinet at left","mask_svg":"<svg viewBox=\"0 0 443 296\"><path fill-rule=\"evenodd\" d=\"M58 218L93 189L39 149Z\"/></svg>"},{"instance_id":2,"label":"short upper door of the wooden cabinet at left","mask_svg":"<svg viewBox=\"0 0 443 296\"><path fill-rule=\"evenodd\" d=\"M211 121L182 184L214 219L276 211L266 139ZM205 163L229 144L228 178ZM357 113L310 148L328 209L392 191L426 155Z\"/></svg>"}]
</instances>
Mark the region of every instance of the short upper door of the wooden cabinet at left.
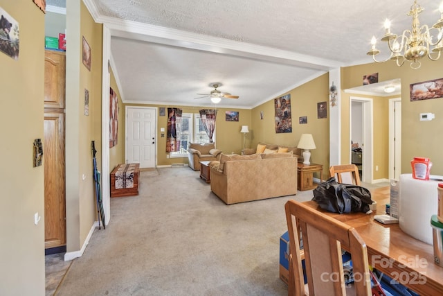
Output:
<instances>
[{"instance_id":1,"label":"short upper door of the wooden cabinet at left","mask_svg":"<svg viewBox=\"0 0 443 296\"><path fill-rule=\"evenodd\" d=\"M65 54L45 51L44 57L44 107L64 108Z\"/></svg>"}]
</instances>

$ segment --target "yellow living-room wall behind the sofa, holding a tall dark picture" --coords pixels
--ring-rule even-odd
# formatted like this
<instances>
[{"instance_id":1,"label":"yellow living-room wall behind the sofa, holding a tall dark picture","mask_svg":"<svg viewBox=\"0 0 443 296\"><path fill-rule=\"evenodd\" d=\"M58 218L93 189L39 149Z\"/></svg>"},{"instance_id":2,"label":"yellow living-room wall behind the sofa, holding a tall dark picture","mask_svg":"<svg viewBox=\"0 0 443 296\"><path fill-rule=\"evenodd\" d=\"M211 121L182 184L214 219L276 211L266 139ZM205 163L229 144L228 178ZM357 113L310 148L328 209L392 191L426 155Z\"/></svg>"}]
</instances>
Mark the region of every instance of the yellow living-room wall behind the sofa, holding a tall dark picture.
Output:
<instances>
[{"instance_id":1,"label":"yellow living-room wall behind the sofa, holding a tall dark picture","mask_svg":"<svg viewBox=\"0 0 443 296\"><path fill-rule=\"evenodd\" d=\"M323 178L327 177L329 175L329 103L327 103L326 119L317 118L317 103L328 102L328 83L329 75L326 73L289 92L292 114L292 132L289 133L275 133L273 100L255 107L251 114L250 131L252 130L253 137L251 148L255 148L258 142L297 146L301 134L312 134L316 149L311 150L311 163L323 164ZM263 120L260 119L260 112L263 112ZM307 116L307 124L298 123L300 116Z\"/></svg>"}]
</instances>

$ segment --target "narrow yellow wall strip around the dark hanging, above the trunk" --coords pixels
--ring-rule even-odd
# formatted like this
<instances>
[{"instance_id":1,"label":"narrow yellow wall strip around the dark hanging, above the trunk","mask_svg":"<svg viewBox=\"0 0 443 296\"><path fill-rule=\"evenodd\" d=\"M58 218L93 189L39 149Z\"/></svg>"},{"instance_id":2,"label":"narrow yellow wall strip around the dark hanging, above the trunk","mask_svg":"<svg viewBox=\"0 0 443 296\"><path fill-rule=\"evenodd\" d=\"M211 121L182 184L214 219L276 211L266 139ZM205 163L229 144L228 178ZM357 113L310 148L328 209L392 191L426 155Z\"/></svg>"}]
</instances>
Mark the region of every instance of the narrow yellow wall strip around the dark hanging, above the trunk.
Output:
<instances>
[{"instance_id":1,"label":"narrow yellow wall strip around the dark hanging, above the trunk","mask_svg":"<svg viewBox=\"0 0 443 296\"><path fill-rule=\"evenodd\" d=\"M118 98L118 134L117 145L109 149L109 170L112 171L118 164L125 164L125 106L123 105L120 96L120 90L117 87L116 78L111 67L110 85L114 92L117 93Z\"/></svg>"}]
</instances>

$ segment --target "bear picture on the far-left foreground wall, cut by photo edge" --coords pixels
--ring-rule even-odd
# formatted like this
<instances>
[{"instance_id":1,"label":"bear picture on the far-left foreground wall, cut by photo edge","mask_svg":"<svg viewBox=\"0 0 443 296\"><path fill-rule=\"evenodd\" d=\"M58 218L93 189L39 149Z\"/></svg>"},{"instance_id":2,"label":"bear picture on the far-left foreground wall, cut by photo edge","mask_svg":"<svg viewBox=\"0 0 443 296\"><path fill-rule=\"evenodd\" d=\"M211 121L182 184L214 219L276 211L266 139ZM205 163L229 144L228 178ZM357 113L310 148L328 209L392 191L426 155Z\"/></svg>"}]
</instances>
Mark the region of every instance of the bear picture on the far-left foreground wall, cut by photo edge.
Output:
<instances>
[{"instance_id":1,"label":"bear picture on the far-left foreground wall, cut by photo edge","mask_svg":"<svg viewBox=\"0 0 443 296\"><path fill-rule=\"evenodd\" d=\"M19 23L0 7L0 51L19 59Z\"/></svg>"}]
</instances>

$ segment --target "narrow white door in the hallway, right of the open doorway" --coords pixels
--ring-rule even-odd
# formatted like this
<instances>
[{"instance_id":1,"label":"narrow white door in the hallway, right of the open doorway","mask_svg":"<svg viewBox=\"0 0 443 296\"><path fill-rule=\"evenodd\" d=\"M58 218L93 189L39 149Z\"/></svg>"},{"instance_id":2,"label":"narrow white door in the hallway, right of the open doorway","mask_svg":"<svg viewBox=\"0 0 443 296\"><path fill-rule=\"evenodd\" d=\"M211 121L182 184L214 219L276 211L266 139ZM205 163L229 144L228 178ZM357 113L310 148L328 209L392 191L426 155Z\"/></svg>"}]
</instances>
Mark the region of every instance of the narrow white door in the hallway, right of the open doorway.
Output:
<instances>
[{"instance_id":1,"label":"narrow white door in the hallway, right of the open doorway","mask_svg":"<svg viewBox=\"0 0 443 296\"><path fill-rule=\"evenodd\" d=\"M401 98L389 100L389 179L401 173Z\"/></svg>"}]
</instances>

